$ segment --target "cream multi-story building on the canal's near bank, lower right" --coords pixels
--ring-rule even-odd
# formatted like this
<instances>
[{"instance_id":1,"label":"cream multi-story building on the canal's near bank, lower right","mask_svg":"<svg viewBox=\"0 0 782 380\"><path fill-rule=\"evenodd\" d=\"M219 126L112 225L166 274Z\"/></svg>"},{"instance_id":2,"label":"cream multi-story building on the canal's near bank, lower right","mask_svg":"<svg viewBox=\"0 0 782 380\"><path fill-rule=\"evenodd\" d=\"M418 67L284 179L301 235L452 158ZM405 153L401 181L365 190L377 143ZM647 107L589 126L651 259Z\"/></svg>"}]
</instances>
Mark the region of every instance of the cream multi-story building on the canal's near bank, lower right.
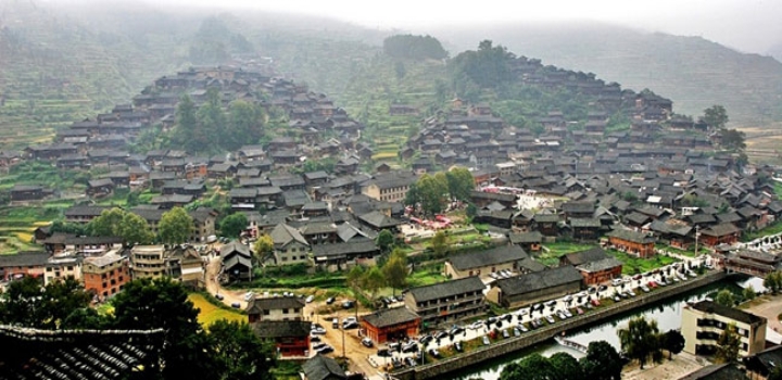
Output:
<instances>
[{"instance_id":1,"label":"cream multi-story building on the canal's near bank, lower right","mask_svg":"<svg viewBox=\"0 0 782 380\"><path fill-rule=\"evenodd\" d=\"M706 300L682 309L684 352L712 354L729 325L735 325L740 337L739 355L749 356L765 349L766 318Z\"/></svg>"}]
</instances>

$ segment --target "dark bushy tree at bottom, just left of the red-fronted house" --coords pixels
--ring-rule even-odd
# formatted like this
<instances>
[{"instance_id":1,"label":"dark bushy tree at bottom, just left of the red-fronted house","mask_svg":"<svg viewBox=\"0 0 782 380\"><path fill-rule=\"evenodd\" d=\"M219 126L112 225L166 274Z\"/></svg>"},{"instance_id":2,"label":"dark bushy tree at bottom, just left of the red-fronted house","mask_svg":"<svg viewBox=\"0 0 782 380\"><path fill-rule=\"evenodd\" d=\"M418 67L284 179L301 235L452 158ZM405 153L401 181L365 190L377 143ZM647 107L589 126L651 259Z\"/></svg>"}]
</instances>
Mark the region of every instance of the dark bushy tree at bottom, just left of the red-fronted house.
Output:
<instances>
[{"instance_id":1,"label":"dark bushy tree at bottom, just left of the red-fronted house","mask_svg":"<svg viewBox=\"0 0 782 380\"><path fill-rule=\"evenodd\" d=\"M222 379L272 380L274 347L264 344L244 321L218 319L209 326L209 337Z\"/></svg>"}]
</instances>

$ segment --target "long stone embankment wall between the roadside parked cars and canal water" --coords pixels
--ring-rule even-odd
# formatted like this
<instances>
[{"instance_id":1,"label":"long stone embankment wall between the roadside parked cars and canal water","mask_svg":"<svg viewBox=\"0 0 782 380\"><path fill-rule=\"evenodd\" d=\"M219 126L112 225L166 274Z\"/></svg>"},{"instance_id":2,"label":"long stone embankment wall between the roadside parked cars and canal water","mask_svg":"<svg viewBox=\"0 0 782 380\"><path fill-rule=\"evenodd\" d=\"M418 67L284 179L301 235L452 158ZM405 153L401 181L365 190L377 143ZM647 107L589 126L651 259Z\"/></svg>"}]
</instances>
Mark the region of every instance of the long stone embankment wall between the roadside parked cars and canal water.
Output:
<instances>
[{"instance_id":1,"label":"long stone embankment wall between the roadside parked cars and canal water","mask_svg":"<svg viewBox=\"0 0 782 380\"><path fill-rule=\"evenodd\" d=\"M463 355L456 355L447 359L439 360L414 368L394 372L393 378L399 380L431 379L447 372L459 370L484 360L489 360L505 354L509 354L531 345L553 339L565 331L576 330L580 327L597 322L615 315L630 312L633 308L655 303L667 297L689 292L691 290L717 282L728 275L724 273L709 273L695 279L670 284L652 293L639 294L636 297L623 300L619 303L603 307L596 312L588 313L573 318L559 321L554 325L542 327L518 338L509 338L491 345L480 347Z\"/></svg>"}]
</instances>

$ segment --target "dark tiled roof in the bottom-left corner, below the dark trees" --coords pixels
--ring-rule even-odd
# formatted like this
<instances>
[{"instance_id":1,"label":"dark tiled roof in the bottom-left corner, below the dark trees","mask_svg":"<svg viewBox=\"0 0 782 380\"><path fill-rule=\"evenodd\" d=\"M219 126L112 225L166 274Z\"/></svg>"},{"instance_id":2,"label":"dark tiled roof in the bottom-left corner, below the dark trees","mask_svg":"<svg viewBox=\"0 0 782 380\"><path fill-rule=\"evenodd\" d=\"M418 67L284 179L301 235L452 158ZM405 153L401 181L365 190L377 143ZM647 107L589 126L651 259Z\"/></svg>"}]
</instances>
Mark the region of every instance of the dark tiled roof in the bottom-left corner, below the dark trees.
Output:
<instances>
[{"instance_id":1,"label":"dark tiled roof in the bottom-left corner, below the dark trees","mask_svg":"<svg viewBox=\"0 0 782 380\"><path fill-rule=\"evenodd\" d=\"M121 379L160 360L160 330L37 330L0 326L3 379Z\"/></svg>"}]
</instances>

